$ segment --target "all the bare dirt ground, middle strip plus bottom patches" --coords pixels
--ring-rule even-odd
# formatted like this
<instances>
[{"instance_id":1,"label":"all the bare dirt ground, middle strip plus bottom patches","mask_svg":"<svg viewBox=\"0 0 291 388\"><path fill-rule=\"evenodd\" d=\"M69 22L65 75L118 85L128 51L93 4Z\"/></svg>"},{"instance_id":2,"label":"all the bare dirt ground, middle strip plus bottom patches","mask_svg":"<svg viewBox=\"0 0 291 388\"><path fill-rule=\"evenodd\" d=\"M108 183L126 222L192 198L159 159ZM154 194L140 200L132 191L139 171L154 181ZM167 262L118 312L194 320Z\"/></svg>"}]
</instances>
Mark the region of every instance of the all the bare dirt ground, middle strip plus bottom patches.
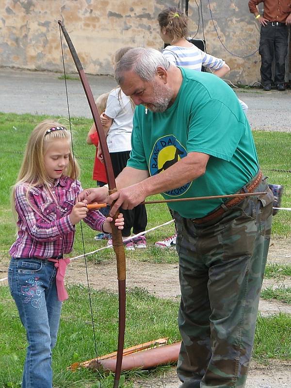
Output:
<instances>
[{"instance_id":1,"label":"all the bare dirt ground, middle strip plus bottom patches","mask_svg":"<svg viewBox=\"0 0 291 388\"><path fill-rule=\"evenodd\" d=\"M273 240L270 246L268 262L291 263L291 240ZM8 262L0 263L0 278L6 276ZM91 287L117 292L115 262L95 265L88 263L88 277ZM83 259L73 260L67 267L66 282L87 284ZM170 287L169 287L170 285ZM291 278L282 280L265 279L263 288L291 287ZM142 287L158 297L179 300L178 264L153 264L134 260L133 254L127 259L127 287ZM285 312L291 314L291 305L277 301L260 300L259 311L264 314ZM162 377L146 381L137 381L134 388L178 388L179 381L175 370ZM272 361L268 366L252 362L246 388L291 388L291 362Z\"/></svg>"}]
</instances>

